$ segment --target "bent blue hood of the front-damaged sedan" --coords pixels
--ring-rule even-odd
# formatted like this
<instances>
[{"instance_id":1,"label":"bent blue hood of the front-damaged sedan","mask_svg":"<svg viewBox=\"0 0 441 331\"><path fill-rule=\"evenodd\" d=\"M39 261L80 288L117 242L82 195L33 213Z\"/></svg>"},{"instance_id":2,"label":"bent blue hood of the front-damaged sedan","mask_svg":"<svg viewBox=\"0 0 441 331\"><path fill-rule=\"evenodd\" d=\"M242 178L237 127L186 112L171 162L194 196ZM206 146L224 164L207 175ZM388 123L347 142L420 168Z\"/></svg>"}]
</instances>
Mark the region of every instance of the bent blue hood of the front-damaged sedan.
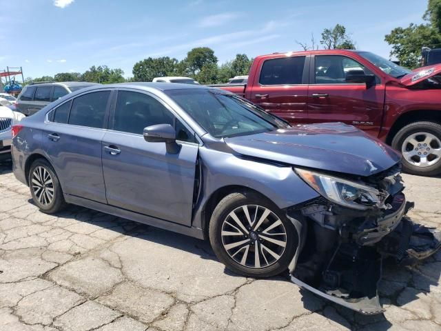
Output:
<instances>
[{"instance_id":1,"label":"bent blue hood of the front-damaged sedan","mask_svg":"<svg viewBox=\"0 0 441 331\"><path fill-rule=\"evenodd\" d=\"M320 123L225 138L235 152L307 168L369 176L391 168L400 153L344 123Z\"/></svg>"}]
</instances>

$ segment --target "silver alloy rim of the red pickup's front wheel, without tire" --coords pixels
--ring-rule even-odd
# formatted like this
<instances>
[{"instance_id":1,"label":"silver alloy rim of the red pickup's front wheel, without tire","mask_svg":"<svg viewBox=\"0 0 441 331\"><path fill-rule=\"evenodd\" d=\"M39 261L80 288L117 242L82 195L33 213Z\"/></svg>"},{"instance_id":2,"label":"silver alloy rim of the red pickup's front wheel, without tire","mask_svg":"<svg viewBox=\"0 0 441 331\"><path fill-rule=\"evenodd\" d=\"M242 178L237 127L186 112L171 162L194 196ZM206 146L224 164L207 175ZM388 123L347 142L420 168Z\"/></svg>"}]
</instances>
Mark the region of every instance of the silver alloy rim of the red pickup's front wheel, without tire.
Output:
<instances>
[{"instance_id":1,"label":"silver alloy rim of the red pickup's front wheel, without tire","mask_svg":"<svg viewBox=\"0 0 441 331\"><path fill-rule=\"evenodd\" d=\"M441 159L441 141L429 132L413 133L404 140L401 152L412 165L429 167Z\"/></svg>"}]
</instances>

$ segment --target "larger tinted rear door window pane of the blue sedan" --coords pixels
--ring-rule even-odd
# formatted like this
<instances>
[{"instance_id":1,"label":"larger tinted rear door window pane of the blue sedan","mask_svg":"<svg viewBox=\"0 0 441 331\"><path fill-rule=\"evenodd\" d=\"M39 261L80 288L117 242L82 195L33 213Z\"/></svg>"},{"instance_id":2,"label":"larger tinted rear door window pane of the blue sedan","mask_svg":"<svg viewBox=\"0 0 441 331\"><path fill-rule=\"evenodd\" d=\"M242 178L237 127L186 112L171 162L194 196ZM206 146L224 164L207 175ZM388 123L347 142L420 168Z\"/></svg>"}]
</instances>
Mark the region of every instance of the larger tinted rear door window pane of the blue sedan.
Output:
<instances>
[{"instance_id":1,"label":"larger tinted rear door window pane of the blue sedan","mask_svg":"<svg viewBox=\"0 0 441 331\"><path fill-rule=\"evenodd\" d=\"M70 110L69 124L103 128L110 91L92 92L76 97Z\"/></svg>"}]
</instances>

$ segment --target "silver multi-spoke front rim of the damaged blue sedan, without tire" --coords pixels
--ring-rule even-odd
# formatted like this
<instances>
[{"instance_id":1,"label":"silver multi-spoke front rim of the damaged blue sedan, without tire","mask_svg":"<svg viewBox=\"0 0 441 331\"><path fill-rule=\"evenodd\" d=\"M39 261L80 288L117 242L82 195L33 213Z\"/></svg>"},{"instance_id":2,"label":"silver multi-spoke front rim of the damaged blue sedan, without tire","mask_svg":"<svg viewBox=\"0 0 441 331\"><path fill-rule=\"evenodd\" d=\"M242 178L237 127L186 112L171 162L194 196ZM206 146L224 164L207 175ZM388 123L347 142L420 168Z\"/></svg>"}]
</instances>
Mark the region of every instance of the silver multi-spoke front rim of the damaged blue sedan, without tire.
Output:
<instances>
[{"instance_id":1,"label":"silver multi-spoke front rim of the damaged blue sedan, without tire","mask_svg":"<svg viewBox=\"0 0 441 331\"><path fill-rule=\"evenodd\" d=\"M220 233L229 257L247 268L266 268L285 252L287 232L268 208L242 205L228 214Z\"/></svg>"}]
</instances>

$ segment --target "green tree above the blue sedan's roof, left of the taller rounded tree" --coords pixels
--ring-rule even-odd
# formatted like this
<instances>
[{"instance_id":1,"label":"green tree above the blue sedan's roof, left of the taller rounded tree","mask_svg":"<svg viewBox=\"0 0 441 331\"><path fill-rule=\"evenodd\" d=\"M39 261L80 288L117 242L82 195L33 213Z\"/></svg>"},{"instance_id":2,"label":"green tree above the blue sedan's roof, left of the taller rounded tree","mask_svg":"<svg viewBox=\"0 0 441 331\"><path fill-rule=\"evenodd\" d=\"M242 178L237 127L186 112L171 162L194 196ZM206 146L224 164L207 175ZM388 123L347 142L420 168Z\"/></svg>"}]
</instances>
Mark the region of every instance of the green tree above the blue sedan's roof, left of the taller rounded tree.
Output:
<instances>
[{"instance_id":1,"label":"green tree above the blue sedan's roof, left of the taller rounded tree","mask_svg":"<svg viewBox=\"0 0 441 331\"><path fill-rule=\"evenodd\" d=\"M134 81L152 81L155 77L173 76L177 72L178 60L170 57L149 57L133 66Z\"/></svg>"}]
</instances>

